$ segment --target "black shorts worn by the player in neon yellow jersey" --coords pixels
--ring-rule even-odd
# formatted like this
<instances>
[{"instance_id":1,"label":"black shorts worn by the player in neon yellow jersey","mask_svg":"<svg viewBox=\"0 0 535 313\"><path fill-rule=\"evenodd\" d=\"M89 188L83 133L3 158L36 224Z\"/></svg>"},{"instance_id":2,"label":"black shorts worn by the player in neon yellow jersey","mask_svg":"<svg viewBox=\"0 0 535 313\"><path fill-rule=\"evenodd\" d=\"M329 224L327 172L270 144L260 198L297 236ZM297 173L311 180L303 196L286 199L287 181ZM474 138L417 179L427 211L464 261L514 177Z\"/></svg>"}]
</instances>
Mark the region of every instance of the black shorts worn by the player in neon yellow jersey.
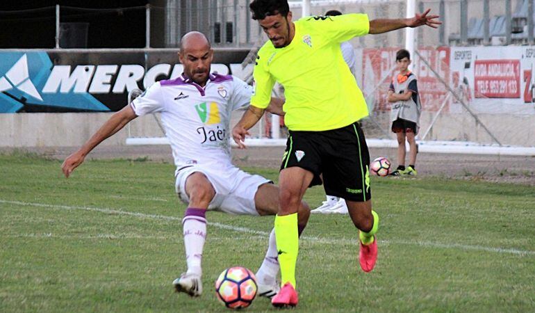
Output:
<instances>
[{"instance_id":1,"label":"black shorts worn by the player in neon yellow jersey","mask_svg":"<svg viewBox=\"0 0 535 313\"><path fill-rule=\"evenodd\" d=\"M309 187L327 195L364 202L371 198L370 154L358 122L328 131L289 131L281 170L298 166L313 173Z\"/></svg>"}]
</instances>

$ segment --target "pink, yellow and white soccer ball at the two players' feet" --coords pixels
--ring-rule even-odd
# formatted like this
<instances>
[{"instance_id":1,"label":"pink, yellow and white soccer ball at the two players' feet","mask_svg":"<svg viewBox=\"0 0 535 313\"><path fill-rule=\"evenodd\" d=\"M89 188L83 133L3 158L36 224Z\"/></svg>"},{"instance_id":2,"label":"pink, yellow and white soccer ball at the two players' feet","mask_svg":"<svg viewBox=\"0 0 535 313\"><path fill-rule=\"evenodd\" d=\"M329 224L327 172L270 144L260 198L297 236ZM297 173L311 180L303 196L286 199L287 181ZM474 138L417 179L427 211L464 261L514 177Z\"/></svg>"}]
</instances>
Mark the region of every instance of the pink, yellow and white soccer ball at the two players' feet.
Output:
<instances>
[{"instance_id":1,"label":"pink, yellow and white soccer ball at the two players' feet","mask_svg":"<svg viewBox=\"0 0 535 313\"><path fill-rule=\"evenodd\" d=\"M240 266L227 268L215 281L217 298L231 309L243 309L251 305L257 289L252 271Z\"/></svg>"}]
</instances>

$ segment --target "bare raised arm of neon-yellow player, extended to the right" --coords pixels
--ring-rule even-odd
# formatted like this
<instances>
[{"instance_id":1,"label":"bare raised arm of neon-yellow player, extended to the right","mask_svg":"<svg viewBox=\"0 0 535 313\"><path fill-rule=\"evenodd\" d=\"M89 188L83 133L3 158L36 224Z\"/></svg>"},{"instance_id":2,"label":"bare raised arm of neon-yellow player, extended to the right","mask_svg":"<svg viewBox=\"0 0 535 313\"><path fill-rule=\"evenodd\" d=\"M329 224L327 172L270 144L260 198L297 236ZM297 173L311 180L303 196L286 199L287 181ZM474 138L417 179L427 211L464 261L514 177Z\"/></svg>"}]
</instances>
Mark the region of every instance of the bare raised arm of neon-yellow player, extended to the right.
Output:
<instances>
[{"instance_id":1,"label":"bare raised arm of neon-yellow player, extended to the right","mask_svg":"<svg viewBox=\"0 0 535 313\"><path fill-rule=\"evenodd\" d=\"M370 21L371 34L386 33L405 27L418 27L427 25L436 29L442 22L438 21L438 15L428 15L431 9L425 10L422 14L416 14L410 19L372 19Z\"/></svg>"}]
</instances>

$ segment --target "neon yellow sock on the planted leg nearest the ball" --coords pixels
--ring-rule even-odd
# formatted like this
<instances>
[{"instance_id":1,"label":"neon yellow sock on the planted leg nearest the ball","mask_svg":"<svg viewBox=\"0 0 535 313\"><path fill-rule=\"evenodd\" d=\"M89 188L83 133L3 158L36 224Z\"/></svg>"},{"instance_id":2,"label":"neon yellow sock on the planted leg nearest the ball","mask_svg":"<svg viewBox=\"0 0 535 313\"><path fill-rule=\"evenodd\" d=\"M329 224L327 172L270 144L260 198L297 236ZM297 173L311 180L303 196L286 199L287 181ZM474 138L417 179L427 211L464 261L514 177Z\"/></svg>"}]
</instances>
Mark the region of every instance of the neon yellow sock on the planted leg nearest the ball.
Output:
<instances>
[{"instance_id":1,"label":"neon yellow sock on the planted leg nearest the ball","mask_svg":"<svg viewBox=\"0 0 535 313\"><path fill-rule=\"evenodd\" d=\"M275 237L281 266L281 286L290 282L295 288L295 263L299 253L297 213L275 216Z\"/></svg>"}]
</instances>

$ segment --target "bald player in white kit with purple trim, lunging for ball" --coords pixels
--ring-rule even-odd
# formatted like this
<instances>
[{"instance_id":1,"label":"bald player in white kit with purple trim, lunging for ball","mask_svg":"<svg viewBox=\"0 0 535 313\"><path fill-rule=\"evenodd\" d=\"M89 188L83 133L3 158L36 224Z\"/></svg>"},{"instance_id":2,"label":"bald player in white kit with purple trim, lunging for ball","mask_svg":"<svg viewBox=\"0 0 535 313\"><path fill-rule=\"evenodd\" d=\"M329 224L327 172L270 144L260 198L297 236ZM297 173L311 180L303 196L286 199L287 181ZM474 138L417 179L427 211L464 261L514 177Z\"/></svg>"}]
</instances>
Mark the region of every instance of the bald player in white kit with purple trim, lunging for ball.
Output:
<instances>
[{"instance_id":1,"label":"bald player in white kit with purple trim, lunging for ball","mask_svg":"<svg viewBox=\"0 0 535 313\"><path fill-rule=\"evenodd\" d=\"M231 75L210 73L213 50L202 33L187 33L180 47L179 59L184 67L181 77L154 83L113 114L89 141L65 159L62 169L69 177L94 147L128 122L140 115L161 113L176 165L176 193L188 204L182 220L188 270L173 285L176 291L200 296L206 210L275 215L279 210L279 188L269 179L250 175L231 163L231 112L249 106L252 87ZM281 113L282 100L272 99L270 107L272 113ZM298 212L300 232L309 214L308 206L302 202ZM260 296L271 298L279 292L277 255L273 230L268 252L256 273Z\"/></svg>"}]
</instances>

